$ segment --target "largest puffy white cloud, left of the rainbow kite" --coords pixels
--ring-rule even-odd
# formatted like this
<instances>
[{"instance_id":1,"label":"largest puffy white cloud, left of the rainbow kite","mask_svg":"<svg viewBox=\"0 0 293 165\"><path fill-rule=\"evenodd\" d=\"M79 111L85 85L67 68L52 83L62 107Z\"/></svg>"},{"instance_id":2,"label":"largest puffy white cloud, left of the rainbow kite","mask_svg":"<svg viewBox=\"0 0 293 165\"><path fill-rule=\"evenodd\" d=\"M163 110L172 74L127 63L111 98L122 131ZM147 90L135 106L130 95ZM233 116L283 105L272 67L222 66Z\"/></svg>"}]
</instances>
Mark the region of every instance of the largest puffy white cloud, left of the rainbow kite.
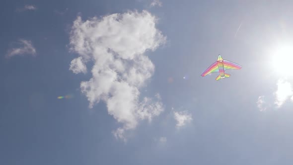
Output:
<instances>
[{"instance_id":1,"label":"largest puffy white cloud, left of the rainbow kite","mask_svg":"<svg viewBox=\"0 0 293 165\"><path fill-rule=\"evenodd\" d=\"M151 121L163 111L159 95L140 101L139 91L154 72L154 65L144 53L165 42L155 22L156 18L147 11L116 13L86 21L78 16L73 22L71 51L82 57L80 64L93 62L92 78L80 83L81 91L90 108L102 100L108 113L123 124L113 132L116 138L126 140L126 130L136 128L139 120ZM79 62L73 60L73 72L83 71L81 65L76 65Z\"/></svg>"}]
</instances>

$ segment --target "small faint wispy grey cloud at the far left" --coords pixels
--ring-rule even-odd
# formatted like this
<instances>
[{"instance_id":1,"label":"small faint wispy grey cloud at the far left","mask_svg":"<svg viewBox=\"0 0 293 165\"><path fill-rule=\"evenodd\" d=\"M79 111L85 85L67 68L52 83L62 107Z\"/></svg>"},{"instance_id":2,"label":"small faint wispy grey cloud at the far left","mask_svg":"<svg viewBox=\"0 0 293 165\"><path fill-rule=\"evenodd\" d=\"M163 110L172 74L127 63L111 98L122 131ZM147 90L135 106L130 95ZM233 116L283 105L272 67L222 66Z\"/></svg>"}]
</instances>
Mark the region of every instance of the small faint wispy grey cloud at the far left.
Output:
<instances>
[{"instance_id":1,"label":"small faint wispy grey cloud at the far left","mask_svg":"<svg viewBox=\"0 0 293 165\"><path fill-rule=\"evenodd\" d=\"M7 51L6 57L12 57L16 55L36 55L36 49L29 40L19 39L17 42L17 48L11 48Z\"/></svg>"}]
</instances>

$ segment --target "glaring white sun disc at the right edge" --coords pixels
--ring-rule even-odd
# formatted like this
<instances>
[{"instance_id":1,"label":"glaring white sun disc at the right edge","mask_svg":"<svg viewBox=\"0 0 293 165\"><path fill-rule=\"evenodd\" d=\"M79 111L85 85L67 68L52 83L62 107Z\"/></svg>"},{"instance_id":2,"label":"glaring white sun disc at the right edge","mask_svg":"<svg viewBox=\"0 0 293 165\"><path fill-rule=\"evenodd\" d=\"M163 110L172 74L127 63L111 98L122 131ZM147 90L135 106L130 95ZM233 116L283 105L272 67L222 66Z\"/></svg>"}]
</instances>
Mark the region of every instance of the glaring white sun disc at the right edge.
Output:
<instances>
[{"instance_id":1,"label":"glaring white sun disc at the right edge","mask_svg":"<svg viewBox=\"0 0 293 165\"><path fill-rule=\"evenodd\" d=\"M280 76L293 76L293 45L280 45L273 51L272 65Z\"/></svg>"}]
</instances>

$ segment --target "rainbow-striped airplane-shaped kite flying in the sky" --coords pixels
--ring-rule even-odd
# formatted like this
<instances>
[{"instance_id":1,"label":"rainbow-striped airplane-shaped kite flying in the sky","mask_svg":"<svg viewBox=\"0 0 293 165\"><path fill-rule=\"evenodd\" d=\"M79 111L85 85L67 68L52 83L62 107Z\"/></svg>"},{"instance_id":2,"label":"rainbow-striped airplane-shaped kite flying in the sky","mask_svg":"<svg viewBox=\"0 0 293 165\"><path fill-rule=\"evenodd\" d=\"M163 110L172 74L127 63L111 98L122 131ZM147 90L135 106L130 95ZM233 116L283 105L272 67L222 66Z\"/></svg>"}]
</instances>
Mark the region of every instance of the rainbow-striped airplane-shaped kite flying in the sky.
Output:
<instances>
[{"instance_id":1,"label":"rainbow-striped airplane-shaped kite flying in the sky","mask_svg":"<svg viewBox=\"0 0 293 165\"><path fill-rule=\"evenodd\" d=\"M231 61L223 60L219 54L218 60L212 64L203 74L202 77L207 76L213 72L219 72L220 75L216 78L216 80L228 78L231 75L225 74L227 69L241 69L242 66Z\"/></svg>"}]
</instances>

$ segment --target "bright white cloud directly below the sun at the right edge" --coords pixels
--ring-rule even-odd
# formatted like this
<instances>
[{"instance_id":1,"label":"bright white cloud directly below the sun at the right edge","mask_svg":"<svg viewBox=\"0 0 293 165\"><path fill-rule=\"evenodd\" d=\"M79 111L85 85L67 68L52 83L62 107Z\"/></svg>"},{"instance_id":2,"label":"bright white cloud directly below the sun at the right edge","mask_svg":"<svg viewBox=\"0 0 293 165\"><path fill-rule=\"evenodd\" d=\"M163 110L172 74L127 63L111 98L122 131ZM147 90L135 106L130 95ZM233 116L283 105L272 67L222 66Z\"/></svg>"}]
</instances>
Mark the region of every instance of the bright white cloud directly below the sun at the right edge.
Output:
<instances>
[{"instance_id":1,"label":"bright white cloud directly below the sun at the right edge","mask_svg":"<svg viewBox=\"0 0 293 165\"><path fill-rule=\"evenodd\" d=\"M277 104L277 107L281 107L290 97L292 99L293 90L291 84L287 81L279 80L277 86L275 104Z\"/></svg>"}]
</instances>

